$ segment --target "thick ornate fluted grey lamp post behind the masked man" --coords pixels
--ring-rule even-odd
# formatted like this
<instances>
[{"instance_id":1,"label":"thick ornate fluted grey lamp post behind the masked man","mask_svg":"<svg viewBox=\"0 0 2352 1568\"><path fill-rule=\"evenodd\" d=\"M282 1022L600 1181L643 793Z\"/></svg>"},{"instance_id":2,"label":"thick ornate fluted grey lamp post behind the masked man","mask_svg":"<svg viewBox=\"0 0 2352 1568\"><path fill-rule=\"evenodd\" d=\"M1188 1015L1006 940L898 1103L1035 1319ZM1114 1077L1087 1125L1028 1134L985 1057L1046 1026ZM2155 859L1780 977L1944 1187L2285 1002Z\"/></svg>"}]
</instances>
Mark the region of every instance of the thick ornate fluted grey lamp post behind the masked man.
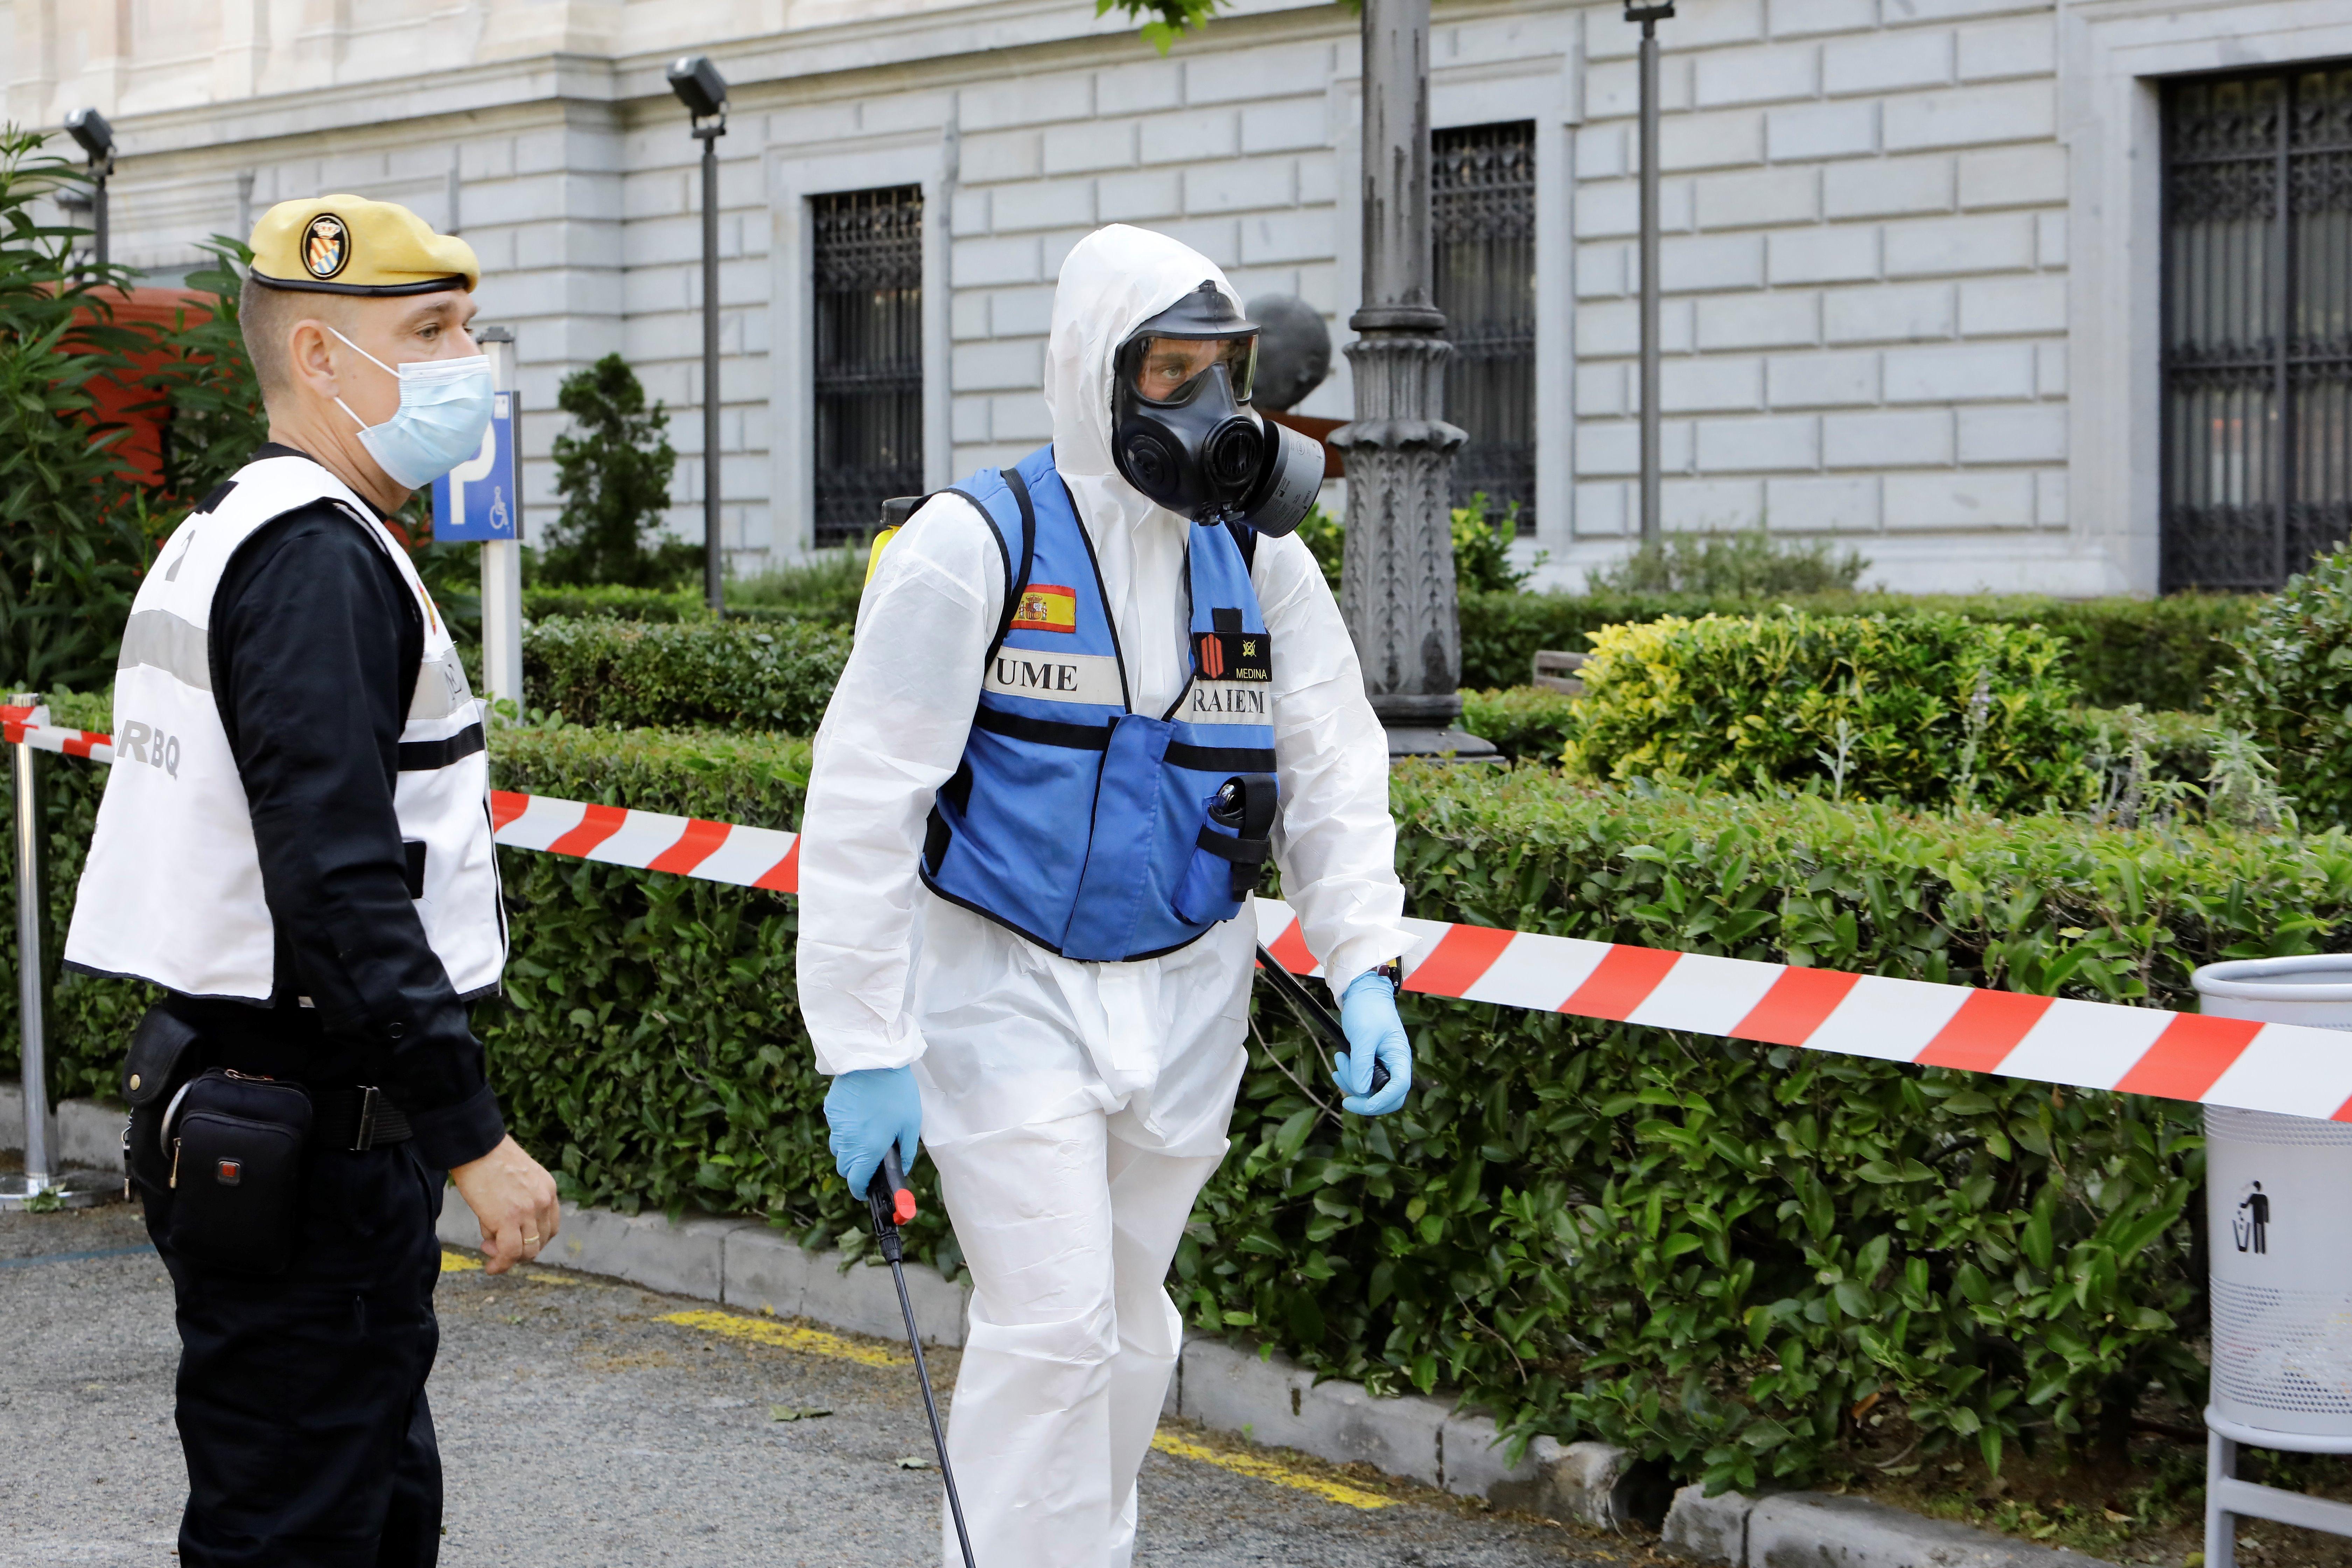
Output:
<instances>
[{"instance_id":1,"label":"thick ornate fluted grey lamp post behind the masked man","mask_svg":"<svg viewBox=\"0 0 2352 1568\"><path fill-rule=\"evenodd\" d=\"M1430 296L1430 0L1364 0L1364 303L1348 454L1341 614L1390 757L1491 757L1461 717L1454 604L1456 425L1437 418L1454 346Z\"/></svg>"}]
</instances>

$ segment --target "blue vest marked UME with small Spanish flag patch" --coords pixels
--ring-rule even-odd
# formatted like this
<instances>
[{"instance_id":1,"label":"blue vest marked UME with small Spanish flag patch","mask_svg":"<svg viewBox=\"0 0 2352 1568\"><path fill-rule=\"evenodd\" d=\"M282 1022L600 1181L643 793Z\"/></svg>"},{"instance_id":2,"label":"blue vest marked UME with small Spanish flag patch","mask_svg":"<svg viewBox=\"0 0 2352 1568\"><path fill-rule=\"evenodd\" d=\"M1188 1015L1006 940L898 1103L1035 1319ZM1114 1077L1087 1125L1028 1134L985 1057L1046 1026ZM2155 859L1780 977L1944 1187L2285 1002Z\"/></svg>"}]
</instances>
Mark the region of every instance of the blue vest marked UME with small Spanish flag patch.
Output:
<instances>
[{"instance_id":1,"label":"blue vest marked UME with small Spanish flag patch","mask_svg":"<svg viewBox=\"0 0 2352 1568\"><path fill-rule=\"evenodd\" d=\"M1148 959L1242 912L1254 835L1211 820L1237 776L1275 771L1272 644L1242 536L1195 527L1185 550L1192 677L1134 712L1094 543L1054 449L983 468L971 501L1004 552L1007 604L964 762L941 785L924 884L1070 959ZM1235 872L1235 867L1242 867Z\"/></svg>"}]
</instances>

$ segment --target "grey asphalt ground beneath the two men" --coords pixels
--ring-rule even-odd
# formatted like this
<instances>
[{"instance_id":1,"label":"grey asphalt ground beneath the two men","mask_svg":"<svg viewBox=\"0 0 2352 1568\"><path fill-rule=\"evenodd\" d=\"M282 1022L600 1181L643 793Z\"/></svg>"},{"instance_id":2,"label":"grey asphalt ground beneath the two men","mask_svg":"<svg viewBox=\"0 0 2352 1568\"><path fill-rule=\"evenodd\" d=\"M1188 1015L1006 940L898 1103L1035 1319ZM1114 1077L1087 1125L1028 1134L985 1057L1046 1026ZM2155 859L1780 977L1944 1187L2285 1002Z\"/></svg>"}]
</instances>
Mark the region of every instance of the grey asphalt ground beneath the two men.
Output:
<instances>
[{"instance_id":1,"label":"grey asphalt ground beneath the two men","mask_svg":"<svg viewBox=\"0 0 2352 1568\"><path fill-rule=\"evenodd\" d=\"M0 1354L0 1432L12 1450L0 1467L0 1568L172 1561L183 1497L172 1429L179 1342L169 1284L143 1241L136 1213L120 1204L0 1215L0 1324L14 1345L38 1347ZM16 1262L35 1255L42 1262ZM936 1476L898 1465L931 1453L913 1373L661 1321L708 1309L553 1269L445 1274L430 1385L449 1488L442 1561L936 1563ZM938 1352L934 1378L943 1392L953 1385L953 1352ZM830 1415L786 1422L774 1420L779 1408ZM1136 1563L1597 1568L1649 1559L1630 1542L1489 1516L1418 1488L1388 1495L1392 1507L1355 1509L1155 1453L1143 1467Z\"/></svg>"}]
</instances>

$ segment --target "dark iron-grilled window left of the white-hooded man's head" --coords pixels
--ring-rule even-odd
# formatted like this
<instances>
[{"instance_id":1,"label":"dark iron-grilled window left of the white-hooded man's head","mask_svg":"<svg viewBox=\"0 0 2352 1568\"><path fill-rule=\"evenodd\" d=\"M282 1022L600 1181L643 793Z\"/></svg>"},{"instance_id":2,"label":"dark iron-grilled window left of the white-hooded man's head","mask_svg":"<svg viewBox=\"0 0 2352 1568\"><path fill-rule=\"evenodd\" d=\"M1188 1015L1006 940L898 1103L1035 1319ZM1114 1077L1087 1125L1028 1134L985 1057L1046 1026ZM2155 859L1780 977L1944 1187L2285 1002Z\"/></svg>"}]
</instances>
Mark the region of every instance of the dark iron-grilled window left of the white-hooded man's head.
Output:
<instances>
[{"instance_id":1,"label":"dark iron-grilled window left of the white-hooded man's head","mask_svg":"<svg viewBox=\"0 0 2352 1568\"><path fill-rule=\"evenodd\" d=\"M816 228L816 543L922 491L922 188L809 197Z\"/></svg>"}]
</instances>

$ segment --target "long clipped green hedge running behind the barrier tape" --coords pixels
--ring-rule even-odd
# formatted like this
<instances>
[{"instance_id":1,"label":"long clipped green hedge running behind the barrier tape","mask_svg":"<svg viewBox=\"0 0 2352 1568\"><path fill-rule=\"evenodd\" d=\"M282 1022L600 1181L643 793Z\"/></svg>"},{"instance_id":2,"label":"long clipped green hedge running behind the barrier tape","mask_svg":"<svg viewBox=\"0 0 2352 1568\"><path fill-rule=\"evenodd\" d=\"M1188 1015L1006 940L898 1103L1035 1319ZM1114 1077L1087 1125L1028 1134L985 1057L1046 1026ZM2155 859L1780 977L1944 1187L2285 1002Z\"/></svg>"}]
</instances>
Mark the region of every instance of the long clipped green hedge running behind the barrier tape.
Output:
<instances>
[{"instance_id":1,"label":"long clipped green hedge running behind the barrier tape","mask_svg":"<svg viewBox=\"0 0 2352 1568\"><path fill-rule=\"evenodd\" d=\"M807 745L508 729L499 788L793 825ZM52 778L61 924L99 769ZM1823 799L1395 773L1414 914L1750 959L2190 1001L2218 957L2352 914L2352 842L1905 818ZM75 839L80 835L80 839ZM583 1204L856 1237L795 1011L795 903L501 851L508 999L475 1023L527 1147ZM101 1093L139 987L59 987L64 1093ZM1879 1396L1929 1448L2112 1429L2201 1396L2192 1107L1425 997L1406 1110L1331 1114L1317 1046L1258 1013L1235 1145L1183 1239L1185 1316L1517 1432L1717 1483L1804 1483ZM917 1182L929 1182L917 1171ZM957 1251L927 1204L917 1253Z\"/></svg>"}]
</instances>

